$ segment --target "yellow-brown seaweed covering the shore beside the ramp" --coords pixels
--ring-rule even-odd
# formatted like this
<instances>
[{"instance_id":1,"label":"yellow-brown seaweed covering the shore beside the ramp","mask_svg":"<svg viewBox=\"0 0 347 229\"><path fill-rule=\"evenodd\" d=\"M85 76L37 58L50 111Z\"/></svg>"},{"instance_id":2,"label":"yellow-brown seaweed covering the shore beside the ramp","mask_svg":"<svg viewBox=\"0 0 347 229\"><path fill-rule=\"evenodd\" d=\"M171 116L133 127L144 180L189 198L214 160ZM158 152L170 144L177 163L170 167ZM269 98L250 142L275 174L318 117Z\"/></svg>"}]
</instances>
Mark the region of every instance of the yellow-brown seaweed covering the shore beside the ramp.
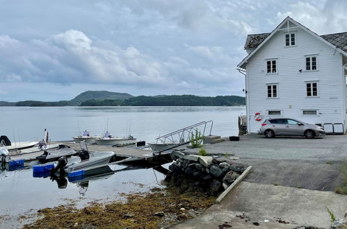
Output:
<instances>
[{"instance_id":1,"label":"yellow-brown seaweed covering the shore beside the ramp","mask_svg":"<svg viewBox=\"0 0 347 229\"><path fill-rule=\"evenodd\" d=\"M44 208L38 211L40 219L24 228L160 228L191 219L216 200L204 192L181 192L176 187L125 197L124 202L92 203L82 209Z\"/></svg>"}]
</instances>

